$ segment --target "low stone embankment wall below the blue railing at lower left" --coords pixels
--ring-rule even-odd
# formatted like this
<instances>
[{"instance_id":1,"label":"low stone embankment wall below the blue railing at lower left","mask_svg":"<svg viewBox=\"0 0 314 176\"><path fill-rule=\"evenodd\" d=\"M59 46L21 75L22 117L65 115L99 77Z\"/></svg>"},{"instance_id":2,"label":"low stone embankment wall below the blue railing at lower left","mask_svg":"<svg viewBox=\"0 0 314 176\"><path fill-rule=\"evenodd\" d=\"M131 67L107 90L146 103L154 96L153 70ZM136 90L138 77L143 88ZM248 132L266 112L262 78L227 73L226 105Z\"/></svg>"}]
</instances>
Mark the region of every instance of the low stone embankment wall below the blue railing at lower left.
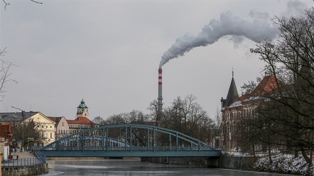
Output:
<instances>
[{"instance_id":1,"label":"low stone embankment wall below the blue railing at lower left","mask_svg":"<svg viewBox=\"0 0 314 176\"><path fill-rule=\"evenodd\" d=\"M2 176L34 176L48 173L48 164L2 168Z\"/></svg>"}]
</instances>

